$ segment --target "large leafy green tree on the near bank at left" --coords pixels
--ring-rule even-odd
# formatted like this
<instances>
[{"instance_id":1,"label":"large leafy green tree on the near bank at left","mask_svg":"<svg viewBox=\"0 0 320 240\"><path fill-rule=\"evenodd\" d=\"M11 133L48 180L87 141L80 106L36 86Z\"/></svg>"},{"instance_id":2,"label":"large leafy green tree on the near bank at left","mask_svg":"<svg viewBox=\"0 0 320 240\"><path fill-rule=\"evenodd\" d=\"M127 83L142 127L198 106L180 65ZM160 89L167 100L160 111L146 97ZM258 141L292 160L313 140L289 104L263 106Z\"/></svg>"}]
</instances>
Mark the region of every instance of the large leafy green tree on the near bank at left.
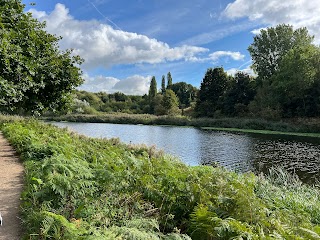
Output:
<instances>
[{"instance_id":1,"label":"large leafy green tree on the near bank at left","mask_svg":"<svg viewBox=\"0 0 320 240\"><path fill-rule=\"evenodd\" d=\"M82 63L59 37L24 12L19 0L0 6L0 110L40 114L65 108L79 86Z\"/></svg>"}]
</instances>

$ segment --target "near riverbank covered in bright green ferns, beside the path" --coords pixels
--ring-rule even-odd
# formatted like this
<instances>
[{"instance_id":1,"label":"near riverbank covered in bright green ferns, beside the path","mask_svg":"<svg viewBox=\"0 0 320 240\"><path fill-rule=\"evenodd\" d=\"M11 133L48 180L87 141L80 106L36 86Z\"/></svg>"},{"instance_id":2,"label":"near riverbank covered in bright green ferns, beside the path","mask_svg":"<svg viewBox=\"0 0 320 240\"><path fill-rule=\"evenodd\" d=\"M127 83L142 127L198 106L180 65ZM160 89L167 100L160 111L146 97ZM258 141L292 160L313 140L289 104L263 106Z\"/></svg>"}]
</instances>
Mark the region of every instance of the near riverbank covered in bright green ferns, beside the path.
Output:
<instances>
[{"instance_id":1,"label":"near riverbank covered in bright green ferns, beside the path","mask_svg":"<svg viewBox=\"0 0 320 240\"><path fill-rule=\"evenodd\" d=\"M320 190L282 171L189 167L35 120L0 128L24 161L28 239L320 238Z\"/></svg>"}]
</instances>

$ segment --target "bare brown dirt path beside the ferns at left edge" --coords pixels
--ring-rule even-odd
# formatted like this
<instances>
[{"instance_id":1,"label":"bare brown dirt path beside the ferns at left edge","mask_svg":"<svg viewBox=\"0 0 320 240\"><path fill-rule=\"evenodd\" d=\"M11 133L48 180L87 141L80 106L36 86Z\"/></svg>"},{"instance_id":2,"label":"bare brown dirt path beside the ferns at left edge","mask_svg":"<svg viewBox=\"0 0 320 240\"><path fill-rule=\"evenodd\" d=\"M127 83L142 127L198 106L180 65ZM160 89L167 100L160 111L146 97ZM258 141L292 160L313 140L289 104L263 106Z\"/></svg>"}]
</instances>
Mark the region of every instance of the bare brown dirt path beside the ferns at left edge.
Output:
<instances>
[{"instance_id":1,"label":"bare brown dirt path beside the ferns at left edge","mask_svg":"<svg viewBox=\"0 0 320 240\"><path fill-rule=\"evenodd\" d=\"M23 171L13 148L0 132L0 212L3 218L0 240L21 239L19 205Z\"/></svg>"}]
</instances>

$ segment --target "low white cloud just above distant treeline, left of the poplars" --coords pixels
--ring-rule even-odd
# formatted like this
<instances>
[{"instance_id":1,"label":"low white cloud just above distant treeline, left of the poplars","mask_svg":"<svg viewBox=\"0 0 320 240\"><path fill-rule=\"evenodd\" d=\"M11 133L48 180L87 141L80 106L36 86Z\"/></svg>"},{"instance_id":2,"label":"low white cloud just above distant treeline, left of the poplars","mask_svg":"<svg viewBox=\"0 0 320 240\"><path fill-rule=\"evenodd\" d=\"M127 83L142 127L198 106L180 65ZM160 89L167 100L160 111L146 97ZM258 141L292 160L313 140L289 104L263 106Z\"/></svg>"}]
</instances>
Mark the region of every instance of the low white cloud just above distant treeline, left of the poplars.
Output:
<instances>
[{"instance_id":1,"label":"low white cloud just above distant treeline, left of the poplars","mask_svg":"<svg viewBox=\"0 0 320 240\"><path fill-rule=\"evenodd\" d=\"M84 84L79 87L79 90L89 92L122 92L127 95L144 95L148 93L151 77L134 75L125 79L117 79L114 77L104 77L101 75L91 77L84 74Z\"/></svg>"}]
</instances>

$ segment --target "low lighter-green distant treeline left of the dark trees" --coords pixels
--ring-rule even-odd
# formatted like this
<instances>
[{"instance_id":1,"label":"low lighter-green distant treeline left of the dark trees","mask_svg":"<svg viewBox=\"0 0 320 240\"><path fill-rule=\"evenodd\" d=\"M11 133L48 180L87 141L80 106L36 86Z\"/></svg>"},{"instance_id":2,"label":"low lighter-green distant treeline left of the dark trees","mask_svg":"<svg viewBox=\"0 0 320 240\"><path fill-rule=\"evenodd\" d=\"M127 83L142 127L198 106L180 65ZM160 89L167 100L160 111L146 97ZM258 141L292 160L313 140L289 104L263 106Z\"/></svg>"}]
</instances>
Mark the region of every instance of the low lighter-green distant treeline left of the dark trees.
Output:
<instances>
[{"instance_id":1,"label":"low lighter-green distant treeline left of the dark trees","mask_svg":"<svg viewBox=\"0 0 320 240\"><path fill-rule=\"evenodd\" d=\"M122 112L176 115L182 113L181 109L190 108L190 106L195 105L198 89L191 84L178 82L172 84L170 89L168 88L163 93L157 92L156 90L152 98L150 94L132 96L121 92L108 94L105 92L76 91L70 110L72 113L84 114ZM169 113L165 108L174 110L175 112ZM66 111L62 113L66 113Z\"/></svg>"}]
</instances>

